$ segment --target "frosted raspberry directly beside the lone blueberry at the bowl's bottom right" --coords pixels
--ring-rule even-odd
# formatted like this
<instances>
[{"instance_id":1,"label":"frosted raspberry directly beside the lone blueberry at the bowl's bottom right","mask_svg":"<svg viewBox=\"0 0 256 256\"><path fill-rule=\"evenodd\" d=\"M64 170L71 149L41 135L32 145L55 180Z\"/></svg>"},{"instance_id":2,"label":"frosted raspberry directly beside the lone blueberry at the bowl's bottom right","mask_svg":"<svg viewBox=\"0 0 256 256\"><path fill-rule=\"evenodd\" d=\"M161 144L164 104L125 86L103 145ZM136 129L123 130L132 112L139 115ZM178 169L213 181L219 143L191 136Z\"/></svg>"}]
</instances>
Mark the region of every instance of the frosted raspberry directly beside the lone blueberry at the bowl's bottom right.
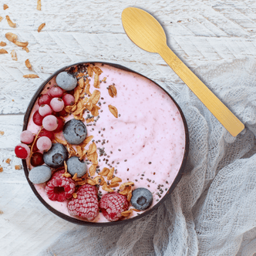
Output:
<instances>
[{"instance_id":1,"label":"frosted raspberry directly beside the lone blueberry at the bowl's bottom right","mask_svg":"<svg viewBox=\"0 0 256 256\"><path fill-rule=\"evenodd\" d=\"M109 221L120 220L121 213L128 210L128 207L129 202L126 197L116 192L104 194L99 201L99 209Z\"/></svg>"}]
</instances>

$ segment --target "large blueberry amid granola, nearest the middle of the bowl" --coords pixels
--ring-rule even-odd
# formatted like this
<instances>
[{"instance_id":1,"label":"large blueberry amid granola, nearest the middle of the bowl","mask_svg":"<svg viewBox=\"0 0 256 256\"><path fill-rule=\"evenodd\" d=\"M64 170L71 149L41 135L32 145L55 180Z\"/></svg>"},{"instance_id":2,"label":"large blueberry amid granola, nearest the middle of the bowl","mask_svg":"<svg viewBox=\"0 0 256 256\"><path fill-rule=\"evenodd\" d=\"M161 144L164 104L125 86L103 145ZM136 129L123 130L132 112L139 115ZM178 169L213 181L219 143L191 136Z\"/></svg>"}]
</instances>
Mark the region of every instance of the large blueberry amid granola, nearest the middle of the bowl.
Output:
<instances>
[{"instance_id":1,"label":"large blueberry amid granola, nearest the middle of the bowl","mask_svg":"<svg viewBox=\"0 0 256 256\"><path fill-rule=\"evenodd\" d=\"M72 119L65 123L63 127L63 135L70 144L80 144L86 139L86 126L81 120Z\"/></svg>"}]
</instances>

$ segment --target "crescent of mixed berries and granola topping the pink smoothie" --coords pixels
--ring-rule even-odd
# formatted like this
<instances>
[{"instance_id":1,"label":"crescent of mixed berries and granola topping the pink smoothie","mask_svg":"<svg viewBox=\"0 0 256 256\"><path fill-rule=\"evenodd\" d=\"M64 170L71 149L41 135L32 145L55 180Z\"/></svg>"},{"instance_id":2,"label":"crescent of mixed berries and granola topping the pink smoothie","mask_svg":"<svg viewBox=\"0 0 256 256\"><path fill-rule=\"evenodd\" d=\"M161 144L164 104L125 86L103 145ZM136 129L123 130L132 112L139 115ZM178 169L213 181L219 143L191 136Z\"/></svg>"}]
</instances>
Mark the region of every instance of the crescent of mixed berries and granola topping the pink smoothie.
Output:
<instances>
[{"instance_id":1,"label":"crescent of mixed berries and granola topping the pink smoothie","mask_svg":"<svg viewBox=\"0 0 256 256\"><path fill-rule=\"evenodd\" d=\"M41 184L49 200L66 202L71 216L93 221L102 214L107 221L119 221L133 211L148 209L153 196L147 188L134 189L129 178L122 184L122 172L129 168L119 170L117 177L105 148L96 146L109 141L96 140L88 132L94 130L91 126L103 112L100 83L105 83L106 77L99 80L101 73L98 66L84 64L52 79L31 113L30 126L38 127L38 132L22 131L15 154L26 160L32 184ZM90 93L93 77L95 89ZM107 89L110 99L117 96L114 84ZM108 109L115 118L120 116L115 106L109 104ZM102 169L99 157L105 157Z\"/></svg>"}]
</instances>

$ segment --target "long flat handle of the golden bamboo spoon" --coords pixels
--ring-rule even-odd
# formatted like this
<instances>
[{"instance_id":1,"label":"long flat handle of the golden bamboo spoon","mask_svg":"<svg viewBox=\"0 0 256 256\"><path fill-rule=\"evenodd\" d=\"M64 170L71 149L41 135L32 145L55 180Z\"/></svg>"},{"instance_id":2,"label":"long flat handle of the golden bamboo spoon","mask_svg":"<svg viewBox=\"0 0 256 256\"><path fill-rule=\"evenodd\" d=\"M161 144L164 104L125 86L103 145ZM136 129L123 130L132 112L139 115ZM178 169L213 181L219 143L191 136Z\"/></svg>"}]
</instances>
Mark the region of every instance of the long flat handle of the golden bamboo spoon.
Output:
<instances>
[{"instance_id":1,"label":"long flat handle of the golden bamboo spoon","mask_svg":"<svg viewBox=\"0 0 256 256\"><path fill-rule=\"evenodd\" d=\"M158 53L232 136L237 136L238 133L244 130L244 124L231 113L231 110L227 109L227 106L221 103L221 100L200 81L194 72L167 45L163 45Z\"/></svg>"}]
</instances>

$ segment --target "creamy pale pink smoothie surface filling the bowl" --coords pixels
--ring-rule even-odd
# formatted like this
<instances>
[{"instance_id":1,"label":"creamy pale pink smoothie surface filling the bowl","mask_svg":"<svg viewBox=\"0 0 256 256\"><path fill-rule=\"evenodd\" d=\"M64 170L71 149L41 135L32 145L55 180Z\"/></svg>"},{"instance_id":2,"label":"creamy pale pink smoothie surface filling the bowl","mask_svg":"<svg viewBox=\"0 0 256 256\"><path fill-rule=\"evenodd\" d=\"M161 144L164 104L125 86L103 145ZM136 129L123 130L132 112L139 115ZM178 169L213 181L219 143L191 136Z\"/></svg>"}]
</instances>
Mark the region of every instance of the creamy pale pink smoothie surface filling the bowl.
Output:
<instances>
[{"instance_id":1,"label":"creamy pale pink smoothie surface filling the bowl","mask_svg":"<svg viewBox=\"0 0 256 256\"><path fill-rule=\"evenodd\" d=\"M180 111L170 96L149 79L106 64L102 66L101 63L96 63L96 66L103 71L99 79L106 77L106 83L100 83L99 88L99 118L96 122L84 123L87 136L93 135L97 148L104 147L106 153L99 157L99 149L97 150L99 169L115 167L114 175L122 179L120 184L133 181L133 190L137 187L150 190L153 194L153 207L173 184L184 159L186 136ZM93 87L92 78L89 83L90 92L93 93L96 88ZM42 93L47 93L54 84L55 78L45 86ZM112 98L107 87L113 84L117 95ZM118 118L109 112L109 105L116 107ZM27 128L32 133L38 133L40 129L32 121L32 115L37 109L39 105L36 102ZM83 115L85 119L87 114ZM72 115L68 116L66 121L72 118ZM61 137L62 132L58 136ZM86 150L88 148L89 145ZM96 176L97 173L93 177ZM45 194L45 184L35 184L35 188L47 204L70 216L67 201L59 203L49 200ZM101 187L99 190L102 194L107 193ZM130 208L134 207L130 204ZM143 212L133 211L129 218ZM99 213L93 222L109 221Z\"/></svg>"}]
</instances>

